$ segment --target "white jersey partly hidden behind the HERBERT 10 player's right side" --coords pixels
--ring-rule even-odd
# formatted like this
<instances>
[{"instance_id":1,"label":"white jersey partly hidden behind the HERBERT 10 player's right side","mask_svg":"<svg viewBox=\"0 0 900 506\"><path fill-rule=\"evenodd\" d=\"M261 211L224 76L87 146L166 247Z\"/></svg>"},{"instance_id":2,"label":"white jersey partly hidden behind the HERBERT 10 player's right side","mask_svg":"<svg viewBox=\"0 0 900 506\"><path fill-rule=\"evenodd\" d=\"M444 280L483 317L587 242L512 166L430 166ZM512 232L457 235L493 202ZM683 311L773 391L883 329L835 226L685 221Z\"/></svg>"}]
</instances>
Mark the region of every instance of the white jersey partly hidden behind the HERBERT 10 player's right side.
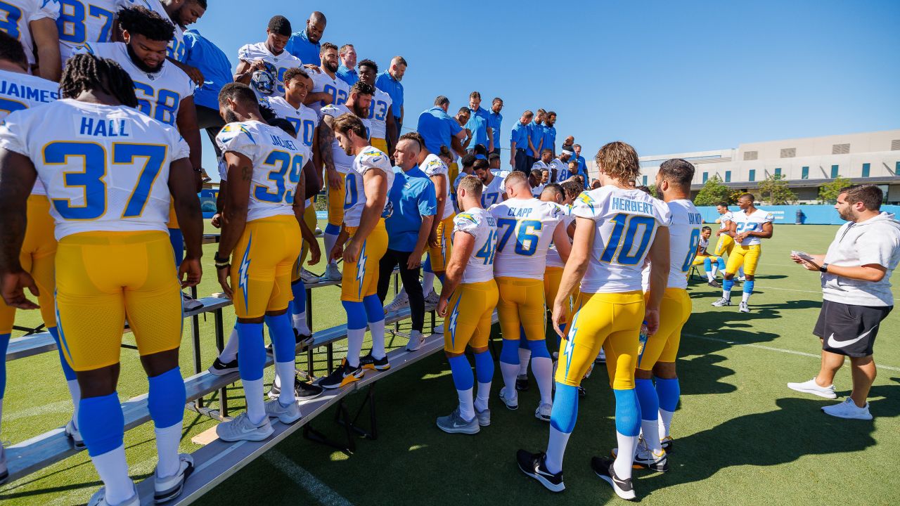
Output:
<instances>
[{"instance_id":1,"label":"white jersey partly hidden behind the HERBERT 10 player's right side","mask_svg":"<svg viewBox=\"0 0 900 506\"><path fill-rule=\"evenodd\" d=\"M697 257L701 243L700 229L703 215L687 199L673 200L669 204L669 288L688 288L688 272Z\"/></svg>"}]
</instances>

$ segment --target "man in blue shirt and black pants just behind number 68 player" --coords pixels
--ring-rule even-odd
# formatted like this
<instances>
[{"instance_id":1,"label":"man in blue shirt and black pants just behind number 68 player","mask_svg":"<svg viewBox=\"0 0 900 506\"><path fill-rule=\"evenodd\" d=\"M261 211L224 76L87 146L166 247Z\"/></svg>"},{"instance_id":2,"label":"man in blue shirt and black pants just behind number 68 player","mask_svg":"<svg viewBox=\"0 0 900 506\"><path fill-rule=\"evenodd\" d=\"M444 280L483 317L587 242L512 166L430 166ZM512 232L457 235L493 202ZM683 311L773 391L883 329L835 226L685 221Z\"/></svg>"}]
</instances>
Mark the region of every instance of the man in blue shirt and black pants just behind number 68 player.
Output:
<instances>
[{"instance_id":1,"label":"man in blue shirt and black pants just behind number 68 player","mask_svg":"<svg viewBox=\"0 0 900 506\"><path fill-rule=\"evenodd\" d=\"M184 32L184 63L203 74L202 86L193 91L193 105L197 110L197 126L206 129L216 157L221 158L216 135L225 122L219 115L219 92L231 82L231 62L215 44L193 28Z\"/></svg>"}]
</instances>

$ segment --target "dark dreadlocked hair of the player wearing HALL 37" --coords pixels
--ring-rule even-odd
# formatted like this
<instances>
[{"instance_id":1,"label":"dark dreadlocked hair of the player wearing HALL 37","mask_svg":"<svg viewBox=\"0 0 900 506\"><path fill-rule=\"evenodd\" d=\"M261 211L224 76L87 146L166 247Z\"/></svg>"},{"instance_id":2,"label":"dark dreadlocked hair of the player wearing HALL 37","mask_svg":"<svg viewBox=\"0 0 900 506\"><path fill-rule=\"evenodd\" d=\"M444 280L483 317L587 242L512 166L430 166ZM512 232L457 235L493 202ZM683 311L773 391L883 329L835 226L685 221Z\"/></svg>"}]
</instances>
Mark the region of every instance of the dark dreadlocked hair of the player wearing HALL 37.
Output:
<instances>
[{"instance_id":1,"label":"dark dreadlocked hair of the player wearing HALL 37","mask_svg":"<svg viewBox=\"0 0 900 506\"><path fill-rule=\"evenodd\" d=\"M123 105L138 106L134 81L114 60L90 54L78 54L68 59L59 81L59 95L76 98L82 92L91 90L112 95Z\"/></svg>"}]
</instances>

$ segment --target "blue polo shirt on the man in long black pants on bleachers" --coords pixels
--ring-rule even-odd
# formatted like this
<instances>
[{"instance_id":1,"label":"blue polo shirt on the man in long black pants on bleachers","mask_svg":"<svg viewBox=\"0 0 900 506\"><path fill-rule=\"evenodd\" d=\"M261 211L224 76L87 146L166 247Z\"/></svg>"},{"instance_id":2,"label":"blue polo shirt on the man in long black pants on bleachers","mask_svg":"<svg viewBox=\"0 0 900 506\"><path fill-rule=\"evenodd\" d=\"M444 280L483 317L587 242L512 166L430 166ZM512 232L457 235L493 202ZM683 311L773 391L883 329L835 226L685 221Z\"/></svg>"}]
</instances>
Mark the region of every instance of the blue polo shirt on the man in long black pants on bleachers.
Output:
<instances>
[{"instance_id":1,"label":"blue polo shirt on the man in long black pants on bleachers","mask_svg":"<svg viewBox=\"0 0 900 506\"><path fill-rule=\"evenodd\" d=\"M388 230L388 248L396 251L412 251L419 241L422 216L434 216L437 212L435 184L419 167L403 172L393 167L394 181L388 191L388 202L393 205L391 216L384 220Z\"/></svg>"}]
</instances>

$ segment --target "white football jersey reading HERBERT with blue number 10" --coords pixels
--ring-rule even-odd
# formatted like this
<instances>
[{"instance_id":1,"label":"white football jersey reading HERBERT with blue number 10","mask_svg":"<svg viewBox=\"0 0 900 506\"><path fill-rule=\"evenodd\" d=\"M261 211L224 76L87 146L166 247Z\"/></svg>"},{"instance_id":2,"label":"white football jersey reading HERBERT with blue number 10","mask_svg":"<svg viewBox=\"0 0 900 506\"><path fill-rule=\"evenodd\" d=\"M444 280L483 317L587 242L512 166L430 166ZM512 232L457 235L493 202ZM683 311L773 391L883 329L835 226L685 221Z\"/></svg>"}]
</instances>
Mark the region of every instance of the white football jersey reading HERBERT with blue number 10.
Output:
<instances>
[{"instance_id":1,"label":"white football jersey reading HERBERT with blue number 10","mask_svg":"<svg viewBox=\"0 0 900 506\"><path fill-rule=\"evenodd\" d=\"M656 231L671 222L669 206L636 188L607 185L579 195L572 214L597 227L581 292L641 290L641 269Z\"/></svg>"}]
</instances>

